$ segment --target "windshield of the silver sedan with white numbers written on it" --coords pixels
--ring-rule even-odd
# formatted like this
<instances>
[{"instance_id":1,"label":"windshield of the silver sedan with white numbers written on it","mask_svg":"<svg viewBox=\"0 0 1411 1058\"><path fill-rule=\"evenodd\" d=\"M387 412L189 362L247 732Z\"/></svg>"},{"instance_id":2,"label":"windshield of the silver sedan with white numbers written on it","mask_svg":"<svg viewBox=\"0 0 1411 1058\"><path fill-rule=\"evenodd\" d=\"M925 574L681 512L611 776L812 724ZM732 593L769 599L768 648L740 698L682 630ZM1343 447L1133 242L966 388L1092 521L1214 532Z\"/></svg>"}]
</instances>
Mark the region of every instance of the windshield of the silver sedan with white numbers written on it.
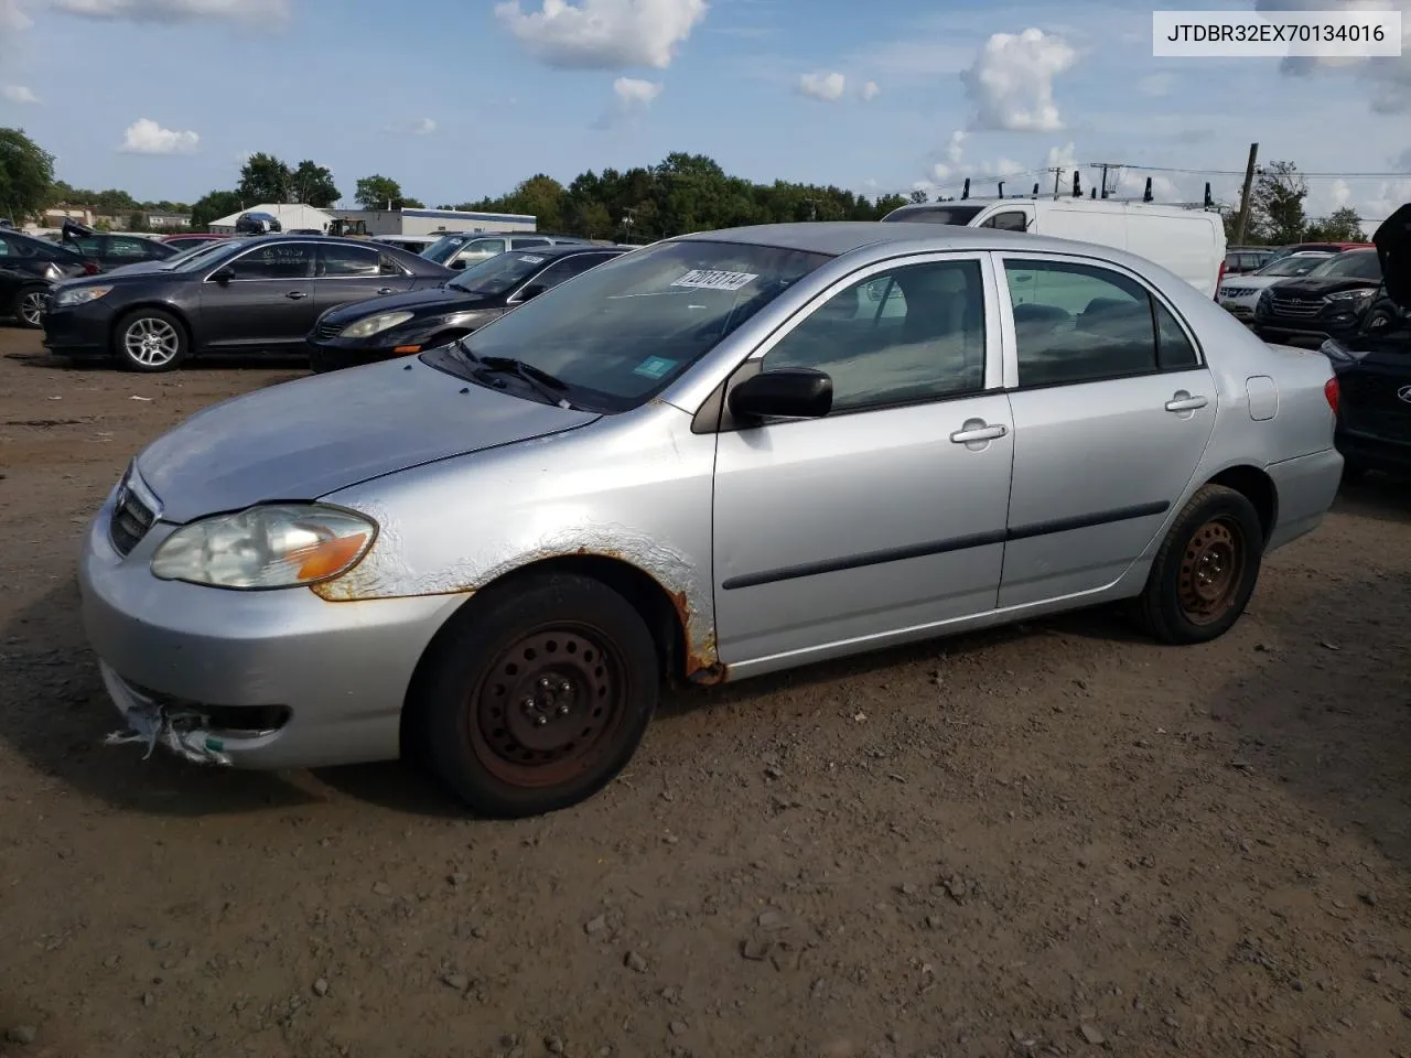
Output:
<instances>
[{"instance_id":1,"label":"windshield of the silver sedan with white numbers written on it","mask_svg":"<svg viewBox=\"0 0 1411 1058\"><path fill-rule=\"evenodd\" d=\"M626 411L828 260L752 244L658 243L555 286L468 344L476 357L519 360L553 375L576 405ZM452 374L473 371L454 346L425 357Z\"/></svg>"}]
</instances>

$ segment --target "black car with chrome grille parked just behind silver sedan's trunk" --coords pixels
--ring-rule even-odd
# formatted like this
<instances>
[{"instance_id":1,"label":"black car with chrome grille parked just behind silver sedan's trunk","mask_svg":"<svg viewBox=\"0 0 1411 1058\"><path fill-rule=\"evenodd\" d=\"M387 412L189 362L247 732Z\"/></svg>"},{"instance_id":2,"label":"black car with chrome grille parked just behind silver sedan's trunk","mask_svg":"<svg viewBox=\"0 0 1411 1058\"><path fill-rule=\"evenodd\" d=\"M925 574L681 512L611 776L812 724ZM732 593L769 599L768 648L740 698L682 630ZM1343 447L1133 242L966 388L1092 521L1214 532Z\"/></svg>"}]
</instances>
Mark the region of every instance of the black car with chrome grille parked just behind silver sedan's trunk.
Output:
<instances>
[{"instance_id":1,"label":"black car with chrome grille parked just behind silver sedan's trunk","mask_svg":"<svg viewBox=\"0 0 1411 1058\"><path fill-rule=\"evenodd\" d=\"M1264 288L1254 302L1254 333L1291 343L1350 337L1380 286L1377 251L1345 250L1302 278Z\"/></svg>"}]
</instances>

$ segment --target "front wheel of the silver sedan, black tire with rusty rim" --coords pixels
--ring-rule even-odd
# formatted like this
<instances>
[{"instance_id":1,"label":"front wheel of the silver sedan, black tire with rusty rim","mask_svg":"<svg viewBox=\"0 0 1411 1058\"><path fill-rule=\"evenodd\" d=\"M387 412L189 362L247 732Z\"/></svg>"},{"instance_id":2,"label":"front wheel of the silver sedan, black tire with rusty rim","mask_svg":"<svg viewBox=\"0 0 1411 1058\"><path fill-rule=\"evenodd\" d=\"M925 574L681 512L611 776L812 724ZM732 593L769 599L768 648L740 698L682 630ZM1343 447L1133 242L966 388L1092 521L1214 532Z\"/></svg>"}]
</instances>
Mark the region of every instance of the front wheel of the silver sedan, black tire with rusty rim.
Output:
<instances>
[{"instance_id":1,"label":"front wheel of the silver sedan, black tire with rusty rim","mask_svg":"<svg viewBox=\"0 0 1411 1058\"><path fill-rule=\"evenodd\" d=\"M408 704L408 756L478 815L557 811L622 770L659 691L652 632L618 592L576 574L516 580L437 638Z\"/></svg>"}]
</instances>

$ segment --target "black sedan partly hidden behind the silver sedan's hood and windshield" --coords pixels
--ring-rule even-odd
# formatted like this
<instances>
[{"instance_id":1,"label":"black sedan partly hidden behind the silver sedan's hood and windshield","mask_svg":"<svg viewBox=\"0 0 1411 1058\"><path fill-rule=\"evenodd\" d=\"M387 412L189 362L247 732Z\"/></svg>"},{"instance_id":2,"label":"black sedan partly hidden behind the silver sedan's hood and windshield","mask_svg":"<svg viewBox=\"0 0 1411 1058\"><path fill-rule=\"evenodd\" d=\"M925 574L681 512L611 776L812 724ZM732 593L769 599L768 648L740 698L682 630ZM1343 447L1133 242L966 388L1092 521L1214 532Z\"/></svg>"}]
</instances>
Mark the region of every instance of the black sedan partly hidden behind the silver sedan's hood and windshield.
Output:
<instances>
[{"instance_id":1,"label":"black sedan partly hidden behind the silver sedan's hood and windshield","mask_svg":"<svg viewBox=\"0 0 1411 1058\"><path fill-rule=\"evenodd\" d=\"M571 243L511 251L471 265L444 286L333 309L309 334L309 363L315 371L336 371L443 346L624 253Z\"/></svg>"}]
</instances>

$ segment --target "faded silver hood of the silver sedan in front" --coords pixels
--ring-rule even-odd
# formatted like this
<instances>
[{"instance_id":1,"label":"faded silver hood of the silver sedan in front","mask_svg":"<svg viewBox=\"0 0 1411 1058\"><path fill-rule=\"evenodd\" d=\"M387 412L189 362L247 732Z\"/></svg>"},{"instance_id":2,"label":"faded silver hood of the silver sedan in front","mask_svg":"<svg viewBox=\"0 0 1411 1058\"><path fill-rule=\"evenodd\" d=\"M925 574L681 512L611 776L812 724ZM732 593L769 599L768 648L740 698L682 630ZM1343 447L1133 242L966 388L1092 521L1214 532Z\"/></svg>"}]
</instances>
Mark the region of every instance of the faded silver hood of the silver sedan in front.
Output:
<instances>
[{"instance_id":1,"label":"faded silver hood of the silver sedan in front","mask_svg":"<svg viewBox=\"0 0 1411 1058\"><path fill-rule=\"evenodd\" d=\"M586 426L595 412L538 403L420 361L282 382L198 412L137 457L162 519L316 499L422 463Z\"/></svg>"}]
</instances>

